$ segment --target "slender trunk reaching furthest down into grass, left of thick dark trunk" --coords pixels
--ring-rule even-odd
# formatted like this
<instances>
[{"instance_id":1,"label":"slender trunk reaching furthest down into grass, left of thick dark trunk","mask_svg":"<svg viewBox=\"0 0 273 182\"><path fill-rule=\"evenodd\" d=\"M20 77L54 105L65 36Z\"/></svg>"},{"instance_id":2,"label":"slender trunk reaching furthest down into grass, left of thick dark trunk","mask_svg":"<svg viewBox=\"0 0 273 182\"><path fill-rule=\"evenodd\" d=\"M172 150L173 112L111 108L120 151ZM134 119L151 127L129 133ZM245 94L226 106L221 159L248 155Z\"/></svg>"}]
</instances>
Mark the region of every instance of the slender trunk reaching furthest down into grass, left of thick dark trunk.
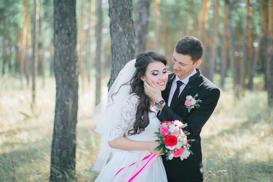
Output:
<instances>
[{"instance_id":1,"label":"slender trunk reaching furthest down into grass, left of thick dark trunk","mask_svg":"<svg viewBox=\"0 0 273 182\"><path fill-rule=\"evenodd\" d=\"M32 105L35 104L36 99L36 76L37 76L37 63L38 63L38 40L39 40L39 0L34 0L35 24L33 35L33 61L32 61Z\"/></svg>"}]
</instances>

